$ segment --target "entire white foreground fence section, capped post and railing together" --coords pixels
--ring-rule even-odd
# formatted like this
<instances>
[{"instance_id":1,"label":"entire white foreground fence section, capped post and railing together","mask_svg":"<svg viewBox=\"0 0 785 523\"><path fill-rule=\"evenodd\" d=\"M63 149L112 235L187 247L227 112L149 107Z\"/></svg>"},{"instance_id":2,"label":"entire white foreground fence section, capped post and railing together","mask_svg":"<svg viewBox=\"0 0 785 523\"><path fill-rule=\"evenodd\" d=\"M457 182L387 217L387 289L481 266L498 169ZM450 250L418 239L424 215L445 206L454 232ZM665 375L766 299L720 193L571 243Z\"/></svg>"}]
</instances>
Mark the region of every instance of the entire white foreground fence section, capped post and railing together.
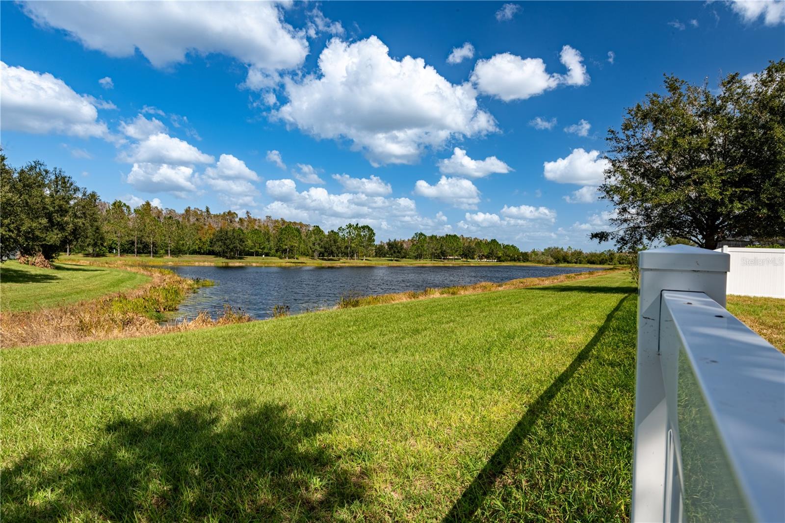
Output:
<instances>
[{"instance_id":1,"label":"entire white foreground fence section, capped post and railing together","mask_svg":"<svg viewBox=\"0 0 785 523\"><path fill-rule=\"evenodd\" d=\"M728 254L638 260L633 521L785 521L785 355L725 310Z\"/></svg>"}]
</instances>

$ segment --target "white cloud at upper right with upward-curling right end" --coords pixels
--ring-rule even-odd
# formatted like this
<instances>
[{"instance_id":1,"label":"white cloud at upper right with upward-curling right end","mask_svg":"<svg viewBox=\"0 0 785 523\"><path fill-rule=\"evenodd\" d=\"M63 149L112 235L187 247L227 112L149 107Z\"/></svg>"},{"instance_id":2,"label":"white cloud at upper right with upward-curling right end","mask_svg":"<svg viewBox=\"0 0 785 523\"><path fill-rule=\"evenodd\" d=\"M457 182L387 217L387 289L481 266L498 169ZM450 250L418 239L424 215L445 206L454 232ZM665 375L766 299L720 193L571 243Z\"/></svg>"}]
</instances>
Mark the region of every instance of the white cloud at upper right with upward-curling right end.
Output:
<instances>
[{"instance_id":1,"label":"white cloud at upper right with upward-curling right end","mask_svg":"<svg viewBox=\"0 0 785 523\"><path fill-rule=\"evenodd\" d=\"M566 75L549 74L542 58L496 54L487 60L477 60L471 79L481 93L503 101L526 100L560 85L585 86L589 83L579 51L564 46L559 60L568 70Z\"/></svg>"}]
</instances>

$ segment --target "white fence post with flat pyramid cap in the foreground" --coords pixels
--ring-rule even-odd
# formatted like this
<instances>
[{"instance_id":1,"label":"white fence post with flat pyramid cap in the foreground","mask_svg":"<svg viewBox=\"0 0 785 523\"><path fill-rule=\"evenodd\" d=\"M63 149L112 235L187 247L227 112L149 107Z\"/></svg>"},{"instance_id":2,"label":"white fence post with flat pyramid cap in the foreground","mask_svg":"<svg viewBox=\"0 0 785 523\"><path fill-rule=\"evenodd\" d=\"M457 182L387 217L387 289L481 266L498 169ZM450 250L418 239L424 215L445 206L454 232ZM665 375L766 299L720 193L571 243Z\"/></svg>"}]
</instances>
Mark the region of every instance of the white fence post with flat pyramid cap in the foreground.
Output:
<instances>
[{"instance_id":1,"label":"white fence post with flat pyramid cap in the foreground","mask_svg":"<svg viewBox=\"0 0 785 523\"><path fill-rule=\"evenodd\" d=\"M672 514L671 500L666 499L666 476L672 477L668 469L673 456L669 459L666 393L658 356L662 291L704 292L725 306L729 267L728 254L686 245L638 254L633 521L670 521Z\"/></svg>"}]
</instances>

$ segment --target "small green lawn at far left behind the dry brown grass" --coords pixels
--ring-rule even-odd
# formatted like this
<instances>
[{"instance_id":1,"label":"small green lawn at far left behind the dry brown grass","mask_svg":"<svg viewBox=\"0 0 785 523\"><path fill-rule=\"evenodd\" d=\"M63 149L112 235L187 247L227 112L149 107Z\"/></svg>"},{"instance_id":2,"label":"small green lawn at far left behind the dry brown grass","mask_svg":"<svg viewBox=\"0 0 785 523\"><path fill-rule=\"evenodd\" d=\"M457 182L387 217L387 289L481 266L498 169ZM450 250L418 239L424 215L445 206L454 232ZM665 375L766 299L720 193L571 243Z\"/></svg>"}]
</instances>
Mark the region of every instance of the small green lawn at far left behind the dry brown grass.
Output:
<instances>
[{"instance_id":1,"label":"small green lawn at far left behind the dry brown grass","mask_svg":"<svg viewBox=\"0 0 785 523\"><path fill-rule=\"evenodd\" d=\"M126 291L150 281L137 272L56 263L39 269L9 261L0 265L0 310L24 311L67 305Z\"/></svg>"}]
</instances>

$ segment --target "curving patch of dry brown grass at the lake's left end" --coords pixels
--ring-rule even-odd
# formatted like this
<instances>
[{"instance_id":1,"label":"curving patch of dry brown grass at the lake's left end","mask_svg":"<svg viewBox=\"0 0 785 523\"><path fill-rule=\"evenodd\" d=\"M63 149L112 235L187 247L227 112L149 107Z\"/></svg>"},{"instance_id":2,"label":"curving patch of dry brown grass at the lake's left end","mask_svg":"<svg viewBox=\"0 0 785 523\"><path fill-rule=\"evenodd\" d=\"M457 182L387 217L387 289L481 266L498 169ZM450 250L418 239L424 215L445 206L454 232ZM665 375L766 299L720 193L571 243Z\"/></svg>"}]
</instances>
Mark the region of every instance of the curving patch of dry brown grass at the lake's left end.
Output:
<instances>
[{"instance_id":1,"label":"curving patch of dry brown grass at the lake's left end","mask_svg":"<svg viewBox=\"0 0 785 523\"><path fill-rule=\"evenodd\" d=\"M217 320L200 313L193 320L161 324L165 314L177 309L182 299L202 283L166 270L126 270L151 276L152 281L130 291L74 305L0 313L0 347L127 338L250 321L250 316L228 308Z\"/></svg>"}]
</instances>

